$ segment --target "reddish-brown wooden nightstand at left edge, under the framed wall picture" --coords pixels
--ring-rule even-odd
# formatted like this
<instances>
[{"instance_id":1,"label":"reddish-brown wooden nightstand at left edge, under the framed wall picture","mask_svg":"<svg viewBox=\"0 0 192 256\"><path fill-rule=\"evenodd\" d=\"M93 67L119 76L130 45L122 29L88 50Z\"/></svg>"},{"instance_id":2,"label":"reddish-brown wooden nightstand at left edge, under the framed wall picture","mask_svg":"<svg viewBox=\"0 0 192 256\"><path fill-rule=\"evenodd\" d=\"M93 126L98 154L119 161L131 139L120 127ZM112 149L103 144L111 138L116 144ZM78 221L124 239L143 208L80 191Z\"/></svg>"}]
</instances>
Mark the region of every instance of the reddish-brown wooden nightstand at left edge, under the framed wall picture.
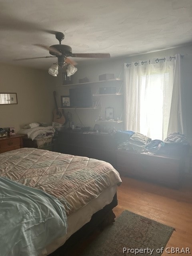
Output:
<instances>
[{"instance_id":1,"label":"reddish-brown wooden nightstand at left edge, under the framed wall picture","mask_svg":"<svg viewBox=\"0 0 192 256\"><path fill-rule=\"evenodd\" d=\"M0 153L23 147L23 135L16 134L0 138Z\"/></svg>"}]
</instances>

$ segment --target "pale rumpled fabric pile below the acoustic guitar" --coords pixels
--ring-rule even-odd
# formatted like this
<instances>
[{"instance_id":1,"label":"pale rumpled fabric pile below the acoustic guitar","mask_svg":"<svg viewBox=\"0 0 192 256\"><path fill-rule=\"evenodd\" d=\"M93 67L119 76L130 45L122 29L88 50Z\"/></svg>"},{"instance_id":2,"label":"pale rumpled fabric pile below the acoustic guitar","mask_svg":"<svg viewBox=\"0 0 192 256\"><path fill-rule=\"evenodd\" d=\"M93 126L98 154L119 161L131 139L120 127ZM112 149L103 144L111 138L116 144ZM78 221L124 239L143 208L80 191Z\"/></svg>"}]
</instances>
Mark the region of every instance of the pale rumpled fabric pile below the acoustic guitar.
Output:
<instances>
[{"instance_id":1,"label":"pale rumpled fabric pile below the acoustic guitar","mask_svg":"<svg viewBox=\"0 0 192 256\"><path fill-rule=\"evenodd\" d=\"M31 123L25 125L18 134L26 134L31 140L38 140L54 136L55 129L53 126L48 126L46 123Z\"/></svg>"}]
</instances>

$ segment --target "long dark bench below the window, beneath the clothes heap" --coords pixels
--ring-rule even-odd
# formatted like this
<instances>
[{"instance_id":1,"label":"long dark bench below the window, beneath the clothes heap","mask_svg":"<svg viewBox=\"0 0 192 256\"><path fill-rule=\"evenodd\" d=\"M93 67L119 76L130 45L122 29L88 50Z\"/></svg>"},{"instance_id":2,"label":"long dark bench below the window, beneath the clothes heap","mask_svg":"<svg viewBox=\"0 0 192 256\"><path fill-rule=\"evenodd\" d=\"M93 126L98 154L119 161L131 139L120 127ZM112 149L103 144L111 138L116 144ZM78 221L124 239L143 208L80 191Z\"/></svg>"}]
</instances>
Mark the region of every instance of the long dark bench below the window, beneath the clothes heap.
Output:
<instances>
[{"instance_id":1,"label":"long dark bench below the window, beneath the clothes heap","mask_svg":"<svg viewBox=\"0 0 192 256\"><path fill-rule=\"evenodd\" d=\"M172 188L179 188L184 166L184 157L172 158L116 150L116 169L120 174Z\"/></svg>"}]
</instances>

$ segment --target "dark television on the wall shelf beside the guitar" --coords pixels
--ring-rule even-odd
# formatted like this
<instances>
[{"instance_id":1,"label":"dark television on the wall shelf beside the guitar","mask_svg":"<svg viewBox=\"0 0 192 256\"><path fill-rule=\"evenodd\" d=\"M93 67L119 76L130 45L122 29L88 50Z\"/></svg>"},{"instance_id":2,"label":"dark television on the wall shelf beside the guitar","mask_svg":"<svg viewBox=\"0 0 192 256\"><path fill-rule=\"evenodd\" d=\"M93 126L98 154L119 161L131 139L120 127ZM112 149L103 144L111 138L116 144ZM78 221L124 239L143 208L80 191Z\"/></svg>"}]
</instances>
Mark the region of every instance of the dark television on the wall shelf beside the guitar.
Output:
<instances>
[{"instance_id":1,"label":"dark television on the wall shelf beside the guitar","mask_svg":"<svg viewBox=\"0 0 192 256\"><path fill-rule=\"evenodd\" d=\"M74 108L90 108L92 107L91 88L89 86L81 86L69 89L70 107Z\"/></svg>"}]
</instances>

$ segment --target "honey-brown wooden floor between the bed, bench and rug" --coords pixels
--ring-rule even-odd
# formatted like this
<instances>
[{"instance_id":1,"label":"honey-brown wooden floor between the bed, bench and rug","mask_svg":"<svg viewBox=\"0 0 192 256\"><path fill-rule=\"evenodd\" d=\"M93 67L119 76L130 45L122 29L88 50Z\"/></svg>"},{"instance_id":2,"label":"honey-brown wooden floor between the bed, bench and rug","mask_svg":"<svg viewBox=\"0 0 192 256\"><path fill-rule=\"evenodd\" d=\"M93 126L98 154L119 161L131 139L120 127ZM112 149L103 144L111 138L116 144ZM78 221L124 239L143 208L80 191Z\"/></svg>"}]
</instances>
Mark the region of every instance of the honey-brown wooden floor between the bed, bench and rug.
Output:
<instances>
[{"instance_id":1,"label":"honey-brown wooden floor between the bed, bench and rug","mask_svg":"<svg viewBox=\"0 0 192 256\"><path fill-rule=\"evenodd\" d=\"M114 213L130 210L175 228L166 247L190 248L192 253L192 178L186 179L178 190L122 178L118 187L118 206ZM126 247L126 244L125 244ZM162 255L167 254L165 251Z\"/></svg>"}]
</instances>

